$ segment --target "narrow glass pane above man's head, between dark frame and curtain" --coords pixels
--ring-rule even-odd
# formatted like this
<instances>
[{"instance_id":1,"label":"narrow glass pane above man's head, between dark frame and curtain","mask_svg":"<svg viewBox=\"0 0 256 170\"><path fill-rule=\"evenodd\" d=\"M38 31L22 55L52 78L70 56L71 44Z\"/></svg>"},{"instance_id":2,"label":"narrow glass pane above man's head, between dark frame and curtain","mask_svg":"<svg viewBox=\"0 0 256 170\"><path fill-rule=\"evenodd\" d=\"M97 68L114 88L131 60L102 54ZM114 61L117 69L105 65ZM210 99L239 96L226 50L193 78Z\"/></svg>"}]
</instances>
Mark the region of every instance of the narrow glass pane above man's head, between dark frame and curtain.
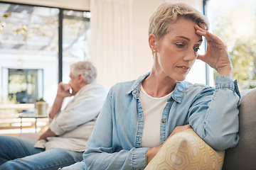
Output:
<instances>
[{"instance_id":1,"label":"narrow glass pane above man's head, between dark frame and curtain","mask_svg":"<svg viewBox=\"0 0 256 170\"><path fill-rule=\"evenodd\" d=\"M70 64L88 60L90 12L63 11L63 81L69 81Z\"/></svg>"}]
</instances>

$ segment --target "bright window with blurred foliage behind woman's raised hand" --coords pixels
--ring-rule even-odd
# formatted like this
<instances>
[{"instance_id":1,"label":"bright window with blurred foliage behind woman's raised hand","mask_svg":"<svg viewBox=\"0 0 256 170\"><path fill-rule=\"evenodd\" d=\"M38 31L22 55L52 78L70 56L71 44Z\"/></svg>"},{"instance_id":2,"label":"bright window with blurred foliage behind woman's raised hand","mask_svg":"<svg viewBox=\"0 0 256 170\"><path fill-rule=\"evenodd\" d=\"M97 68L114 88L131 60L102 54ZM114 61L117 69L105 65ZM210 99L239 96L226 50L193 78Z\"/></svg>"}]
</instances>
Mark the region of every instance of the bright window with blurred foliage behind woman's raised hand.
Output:
<instances>
[{"instance_id":1,"label":"bright window with blurred foliage behind woman's raised hand","mask_svg":"<svg viewBox=\"0 0 256 170\"><path fill-rule=\"evenodd\" d=\"M228 46L240 90L256 87L256 1L210 0L206 9L210 31Z\"/></svg>"}]
</instances>

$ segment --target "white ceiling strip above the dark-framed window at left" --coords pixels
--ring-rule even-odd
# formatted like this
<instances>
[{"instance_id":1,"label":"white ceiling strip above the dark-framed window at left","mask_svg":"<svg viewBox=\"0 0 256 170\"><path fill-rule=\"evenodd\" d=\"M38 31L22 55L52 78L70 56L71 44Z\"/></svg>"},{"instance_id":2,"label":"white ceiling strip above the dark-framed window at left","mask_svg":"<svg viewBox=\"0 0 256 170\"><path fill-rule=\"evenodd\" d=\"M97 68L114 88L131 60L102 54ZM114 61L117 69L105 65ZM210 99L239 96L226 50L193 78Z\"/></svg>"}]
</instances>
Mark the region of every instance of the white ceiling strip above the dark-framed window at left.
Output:
<instances>
[{"instance_id":1,"label":"white ceiling strip above the dark-framed window at left","mask_svg":"<svg viewBox=\"0 0 256 170\"><path fill-rule=\"evenodd\" d=\"M0 0L2 1L2 0ZM58 8L68 8L81 11L90 10L90 0L4 0L18 4L31 4L38 6L51 6Z\"/></svg>"}]
</instances>

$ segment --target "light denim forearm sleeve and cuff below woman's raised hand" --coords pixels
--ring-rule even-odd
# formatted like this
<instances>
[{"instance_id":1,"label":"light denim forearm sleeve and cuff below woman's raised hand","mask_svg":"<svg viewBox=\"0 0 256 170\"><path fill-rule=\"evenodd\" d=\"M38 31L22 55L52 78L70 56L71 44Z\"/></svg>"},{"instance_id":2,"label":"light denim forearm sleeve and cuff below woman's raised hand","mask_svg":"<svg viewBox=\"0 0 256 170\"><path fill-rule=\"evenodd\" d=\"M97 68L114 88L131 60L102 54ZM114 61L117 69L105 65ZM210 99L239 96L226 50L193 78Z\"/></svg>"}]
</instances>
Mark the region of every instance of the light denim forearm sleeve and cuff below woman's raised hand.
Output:
<instances>
[{"instance_id":1,"label":"light denim forearm sleeve and cuff below woman's raised hand","mask_svg":"<svg viewBox=\"0 0 256 170\"><path fill-rule=\"evenodd\" d=\"M237 81L218 76L215 79L215 92L206 113L203 138L216 150L235 147L239 141L240 92Z\"/></svg>"}]
</instances>

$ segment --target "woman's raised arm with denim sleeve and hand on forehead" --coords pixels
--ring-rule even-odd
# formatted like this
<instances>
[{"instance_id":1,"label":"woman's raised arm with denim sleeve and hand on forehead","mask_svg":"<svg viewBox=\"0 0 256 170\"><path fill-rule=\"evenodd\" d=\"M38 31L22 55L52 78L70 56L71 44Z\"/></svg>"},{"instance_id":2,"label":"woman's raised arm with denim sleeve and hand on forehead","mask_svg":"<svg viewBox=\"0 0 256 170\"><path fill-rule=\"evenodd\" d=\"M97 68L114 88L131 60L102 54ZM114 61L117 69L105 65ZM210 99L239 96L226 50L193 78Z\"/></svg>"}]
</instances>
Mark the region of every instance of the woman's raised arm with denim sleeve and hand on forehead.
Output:
<instances>
[{"instance_id":1,"label":"woman's raised arm with denim sleeve and hand on forehead","mask_svg":"<svg viewBox=\"0 0 256 170\"><path fill-rule=\"evenodd\" d=\"M201 91L190 109L189 123L211 147L222 150L238 144L238 106L240 94L237 82L232 80L233 67L228 48L220 38L211 34L201 23L196 33L204 36L207 50L198 59L215 69L215 91Z\"/></svg>"}]
</instances>

